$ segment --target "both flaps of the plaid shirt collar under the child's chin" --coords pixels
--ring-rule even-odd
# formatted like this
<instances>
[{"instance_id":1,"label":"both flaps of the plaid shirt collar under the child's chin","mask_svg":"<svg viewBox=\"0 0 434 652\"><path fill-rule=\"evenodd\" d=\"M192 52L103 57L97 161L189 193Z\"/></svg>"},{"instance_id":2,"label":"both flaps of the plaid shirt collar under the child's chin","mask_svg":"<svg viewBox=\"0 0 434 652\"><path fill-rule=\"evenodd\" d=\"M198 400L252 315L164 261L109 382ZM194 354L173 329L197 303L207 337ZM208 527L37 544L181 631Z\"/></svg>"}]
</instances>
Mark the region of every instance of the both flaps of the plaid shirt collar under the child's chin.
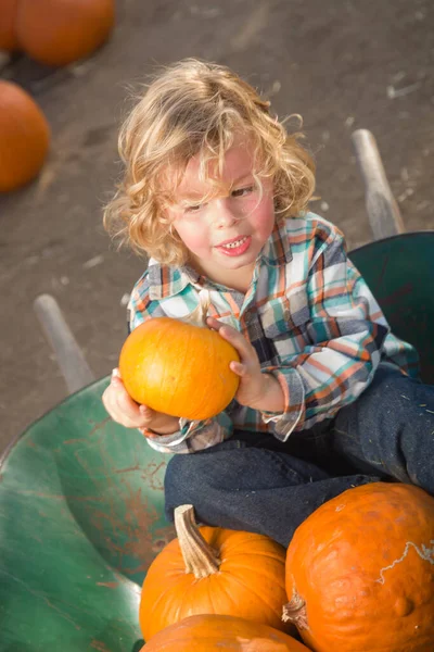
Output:
<instances>
[{"instance_id":1,"label":"both flaps of the plaid shirt collar under the child's chin","mask_svg":"<svg viewBox=\"0 0 434 652\"><path fill-rule=\"evenodd\" d=\"M271 236L258 255L256 269L264 262L270 267L278 267L292 261L292 251L288 234L288 221L276 222ZM161 300L179 294L187 286L201 289L205 280L193 267L169 267L161 265L155 259L149 261L148 267L149 296L151 300Z\"/></svg>"}]
</instances>

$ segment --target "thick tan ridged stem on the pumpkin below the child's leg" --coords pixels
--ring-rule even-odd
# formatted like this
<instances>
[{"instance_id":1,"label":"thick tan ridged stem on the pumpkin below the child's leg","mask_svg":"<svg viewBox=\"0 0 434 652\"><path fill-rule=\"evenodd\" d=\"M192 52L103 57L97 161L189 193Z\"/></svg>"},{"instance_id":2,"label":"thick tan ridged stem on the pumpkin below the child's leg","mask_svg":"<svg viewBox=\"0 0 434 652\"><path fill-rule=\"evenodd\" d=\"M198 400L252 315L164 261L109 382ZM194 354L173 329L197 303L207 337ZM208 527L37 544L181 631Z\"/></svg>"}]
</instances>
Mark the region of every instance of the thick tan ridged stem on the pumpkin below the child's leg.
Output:
<instances>
[{"instance_id":1,"label":"thick tan ridged stem on the pumpkin below the child's leg","mask_svg":"<svg viewBox=\"0 0 434 652\"><path fill-rule=\"evenodd\" d=\"M201 535L194 519L193 505L176 507L175 527L186 564L186 573L193 573L196 579L217 573L221 561Z\"/></svg>"}]
</instances>

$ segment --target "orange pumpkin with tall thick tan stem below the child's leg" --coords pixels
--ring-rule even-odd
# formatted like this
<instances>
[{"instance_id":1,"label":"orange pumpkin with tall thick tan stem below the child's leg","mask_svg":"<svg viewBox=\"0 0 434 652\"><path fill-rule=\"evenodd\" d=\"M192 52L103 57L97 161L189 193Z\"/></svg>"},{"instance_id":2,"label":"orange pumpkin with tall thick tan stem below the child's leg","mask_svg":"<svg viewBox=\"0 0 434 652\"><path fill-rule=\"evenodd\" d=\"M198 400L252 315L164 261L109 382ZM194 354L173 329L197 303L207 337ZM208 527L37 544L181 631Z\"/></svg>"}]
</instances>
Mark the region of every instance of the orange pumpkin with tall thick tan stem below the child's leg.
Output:
<instances>
[{"instance_id":1,"label":"orange pumpkin with tall thick tan stem below the child's leg","mask_svg":"<svg viewBox=\"0 0 434 652\"><path fill-rule=\"evenodd\" d=\"M263 535L197 528L192 505L175 511L178 538L152 562L143 581L139 620L149 641L157 631L199 614L239 616L289 630L285 550Z\"/></svg>"}]
</instances>

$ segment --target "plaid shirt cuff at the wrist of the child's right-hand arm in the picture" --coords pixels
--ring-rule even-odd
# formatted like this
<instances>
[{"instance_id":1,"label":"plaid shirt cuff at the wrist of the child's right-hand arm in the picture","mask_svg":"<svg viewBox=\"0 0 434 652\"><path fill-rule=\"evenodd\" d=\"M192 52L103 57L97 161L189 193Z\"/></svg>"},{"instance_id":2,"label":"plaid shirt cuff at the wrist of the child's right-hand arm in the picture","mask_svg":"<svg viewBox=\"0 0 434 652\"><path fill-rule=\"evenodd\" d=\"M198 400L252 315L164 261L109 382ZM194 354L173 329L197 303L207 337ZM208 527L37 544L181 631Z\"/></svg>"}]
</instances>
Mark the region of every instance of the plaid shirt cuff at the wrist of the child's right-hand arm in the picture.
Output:
<instances>
[{"instance_id":1,"label":"plaid shirt cuff at the wrist of the child's right-hand arm in the picture","mask_svg":"<svg viewBox=\"0 0 434 652\"><path fill-rule=\"evenodd\" d=\"M284 409L281 413L261 411L263 422L272 423L275 436L286 441L291 432L305 417L305 388L302 377L294 367L267 367L264 374L272 374L283 391Z\"/></svg>"}]
</instances>

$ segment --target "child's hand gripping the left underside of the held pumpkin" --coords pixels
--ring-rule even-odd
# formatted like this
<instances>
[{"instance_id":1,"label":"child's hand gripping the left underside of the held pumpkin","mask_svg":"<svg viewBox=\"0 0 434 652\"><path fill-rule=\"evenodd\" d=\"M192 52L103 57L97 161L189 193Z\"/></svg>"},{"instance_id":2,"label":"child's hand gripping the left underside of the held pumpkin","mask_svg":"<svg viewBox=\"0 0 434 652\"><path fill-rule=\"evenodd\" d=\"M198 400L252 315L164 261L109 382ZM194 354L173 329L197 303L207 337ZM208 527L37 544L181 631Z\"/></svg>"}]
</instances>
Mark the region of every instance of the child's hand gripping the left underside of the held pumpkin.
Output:
<instances>
[{"instance_id":1,"label":"child's hand gripping the left underside of the held pumpkin","mask_svg":"<svg viewBox=\"0 0 434 652\"><path fill-rule=\"evenodd\" d=\"M119 369L113 369L112 380L102 394L102 402L113 421L126 428L151 429L156 437L170 435L179 429L176 416L136 403L125 389Z\"/></svg>"}]
</instances>

